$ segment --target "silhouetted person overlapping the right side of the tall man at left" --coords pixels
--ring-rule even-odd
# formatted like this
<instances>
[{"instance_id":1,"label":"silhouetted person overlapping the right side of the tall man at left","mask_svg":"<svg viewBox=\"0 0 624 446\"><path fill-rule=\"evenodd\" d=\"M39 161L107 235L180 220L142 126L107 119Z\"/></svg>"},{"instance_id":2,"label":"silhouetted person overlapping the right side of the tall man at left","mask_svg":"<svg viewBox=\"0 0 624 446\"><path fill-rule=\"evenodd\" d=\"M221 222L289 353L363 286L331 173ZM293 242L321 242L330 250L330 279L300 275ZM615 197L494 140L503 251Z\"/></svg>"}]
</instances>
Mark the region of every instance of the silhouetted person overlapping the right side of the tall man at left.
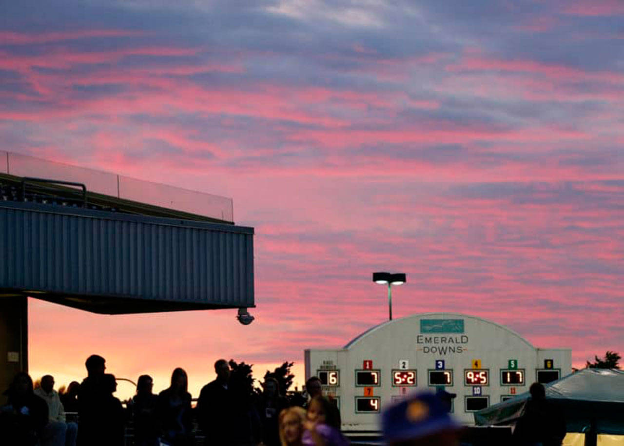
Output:
<instances>
[{"instance_id":1,"label":"silhouetted person overlapping the right side of the tall man at left","mask_svg":"<svg viewBox=\"0 0 624 446\"><path fill-rule=\"evenodd\" d=\"M123 446L125 414L121 402L113 394L117 391L117 380L111 374L102 377L102 410L99 429L100 444Z\"/></svg>"}]
</instances>

